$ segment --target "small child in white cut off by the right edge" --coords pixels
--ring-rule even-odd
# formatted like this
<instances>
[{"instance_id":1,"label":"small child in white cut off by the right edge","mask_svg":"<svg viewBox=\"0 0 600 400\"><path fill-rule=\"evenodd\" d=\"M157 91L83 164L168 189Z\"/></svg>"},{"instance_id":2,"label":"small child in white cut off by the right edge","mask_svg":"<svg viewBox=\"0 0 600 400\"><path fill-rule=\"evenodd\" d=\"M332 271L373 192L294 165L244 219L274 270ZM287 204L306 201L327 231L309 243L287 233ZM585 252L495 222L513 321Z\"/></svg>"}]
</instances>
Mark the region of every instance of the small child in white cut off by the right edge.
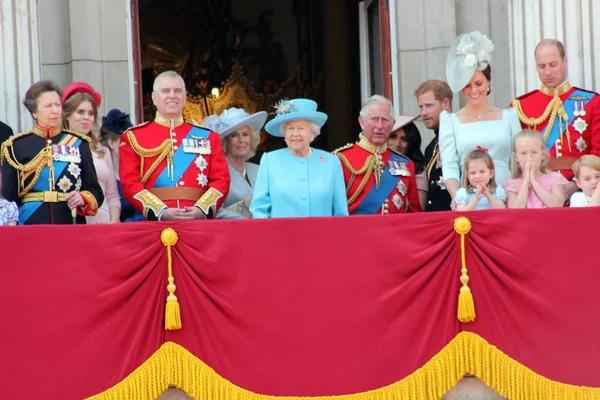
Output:
<instances>
[{"instance_id":1,"label":"small child in white cut off by the right edge","mask_svg":"<svg viewBox=\"0 0 600 400\"><path fill-rule=\"evenodd\" d=\"M573 193L570 207L600 206L600 157L587 154L573 164L575 183L581 192Z\"/></svg>"}]
</instances>

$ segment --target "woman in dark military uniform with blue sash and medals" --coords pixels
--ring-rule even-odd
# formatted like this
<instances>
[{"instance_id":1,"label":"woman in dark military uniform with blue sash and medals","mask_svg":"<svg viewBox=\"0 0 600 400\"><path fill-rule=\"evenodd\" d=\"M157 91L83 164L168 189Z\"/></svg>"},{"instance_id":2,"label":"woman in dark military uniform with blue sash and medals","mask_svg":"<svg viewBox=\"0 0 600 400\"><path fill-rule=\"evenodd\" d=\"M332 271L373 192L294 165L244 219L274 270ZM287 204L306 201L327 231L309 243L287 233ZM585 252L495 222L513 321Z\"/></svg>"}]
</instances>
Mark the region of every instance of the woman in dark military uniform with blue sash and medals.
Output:
<instances>
[{"instance_id":1,"label":"woman in dark military uniform with blue sash and medals","mask_svg":"<svg viewBox=\"0 0 600 400\"><path fill-rule=\"evenodd\" d=\"M19 206L19 225L85 224L104 200L89 137L61 129L60 98L54 82L34 83L23 101L33 130L2 146L2 194Z\"/></svg>"}]
</instances>

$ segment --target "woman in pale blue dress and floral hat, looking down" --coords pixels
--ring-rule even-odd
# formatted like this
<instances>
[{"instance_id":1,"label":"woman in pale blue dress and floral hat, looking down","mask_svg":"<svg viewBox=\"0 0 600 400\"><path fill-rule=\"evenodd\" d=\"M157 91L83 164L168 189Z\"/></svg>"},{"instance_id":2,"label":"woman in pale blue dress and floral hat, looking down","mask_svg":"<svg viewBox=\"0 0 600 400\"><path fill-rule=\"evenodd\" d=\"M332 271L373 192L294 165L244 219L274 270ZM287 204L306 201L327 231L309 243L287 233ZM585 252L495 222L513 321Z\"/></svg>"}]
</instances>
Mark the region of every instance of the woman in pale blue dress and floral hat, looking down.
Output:
<instances>
[{"instance_id":1,"label":"woman in pale blue dress and floral hat, looking down","mask_svg":"<svg viewBox=\"0 0 600 400\"><path fill-rule=\"evenodd\" d=\"M464 159L477 146L488 150L496 167L496 182L510 179L512 139L521 131L514 109L501 110L487 101L490 93L492 42L479 32L460 35L448 52L446 78L466 105L456 113L440 114L440 157L448 193L459 189Z\"/></svg>"}]
</instances>

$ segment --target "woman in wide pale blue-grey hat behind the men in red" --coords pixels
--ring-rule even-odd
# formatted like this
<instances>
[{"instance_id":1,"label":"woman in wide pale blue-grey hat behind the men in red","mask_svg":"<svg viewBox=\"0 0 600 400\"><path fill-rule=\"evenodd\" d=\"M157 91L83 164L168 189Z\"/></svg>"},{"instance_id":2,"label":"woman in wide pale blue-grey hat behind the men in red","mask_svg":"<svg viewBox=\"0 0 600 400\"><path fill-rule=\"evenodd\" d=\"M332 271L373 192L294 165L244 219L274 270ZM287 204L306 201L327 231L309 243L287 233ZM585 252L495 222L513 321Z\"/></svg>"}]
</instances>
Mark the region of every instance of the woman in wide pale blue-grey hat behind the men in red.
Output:
<instances>
[{"instance_id":1,"label":"woman in wide pale blue-grey hat behind the men in red","mask_svg":"<svg viewBox=\"0 0 600 400\"><path fill-rule=\"evenodd\" d=\"M220 219L243 219L252 215L248 211L258 174L258 165L247 160L256 152L260 130L267 113L259 111L250 115L241 108L228 108L221 115L206 117L203 125L221 137L227 156L231 184L223 207L217 212Z\"/></svg>"}]
</instances>

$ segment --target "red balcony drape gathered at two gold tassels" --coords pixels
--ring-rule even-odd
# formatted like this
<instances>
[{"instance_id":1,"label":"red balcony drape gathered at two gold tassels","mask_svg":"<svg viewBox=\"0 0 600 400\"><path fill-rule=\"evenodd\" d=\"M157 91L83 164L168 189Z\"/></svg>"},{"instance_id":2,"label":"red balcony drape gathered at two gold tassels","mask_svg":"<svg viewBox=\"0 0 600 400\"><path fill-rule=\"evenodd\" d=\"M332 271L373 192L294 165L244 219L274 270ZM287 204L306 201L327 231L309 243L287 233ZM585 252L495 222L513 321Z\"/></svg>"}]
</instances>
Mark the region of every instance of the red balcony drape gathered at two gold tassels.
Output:
<instances>
[{"instance_id":1,"label":"red balcony drape gathered at two gold tassels","mask_svg":"<svg viewBox=\"0 0 600 400\"><path fill-rule=\"evenodd\" d=\"M255 393L359 393L461 331L544 377L600 387L600 210L464 214L467 324L459 215L0 228L3 397L92 396L167 341ZM176 331L164 330L168 226Z\"/></svg>"}]
</instances>

